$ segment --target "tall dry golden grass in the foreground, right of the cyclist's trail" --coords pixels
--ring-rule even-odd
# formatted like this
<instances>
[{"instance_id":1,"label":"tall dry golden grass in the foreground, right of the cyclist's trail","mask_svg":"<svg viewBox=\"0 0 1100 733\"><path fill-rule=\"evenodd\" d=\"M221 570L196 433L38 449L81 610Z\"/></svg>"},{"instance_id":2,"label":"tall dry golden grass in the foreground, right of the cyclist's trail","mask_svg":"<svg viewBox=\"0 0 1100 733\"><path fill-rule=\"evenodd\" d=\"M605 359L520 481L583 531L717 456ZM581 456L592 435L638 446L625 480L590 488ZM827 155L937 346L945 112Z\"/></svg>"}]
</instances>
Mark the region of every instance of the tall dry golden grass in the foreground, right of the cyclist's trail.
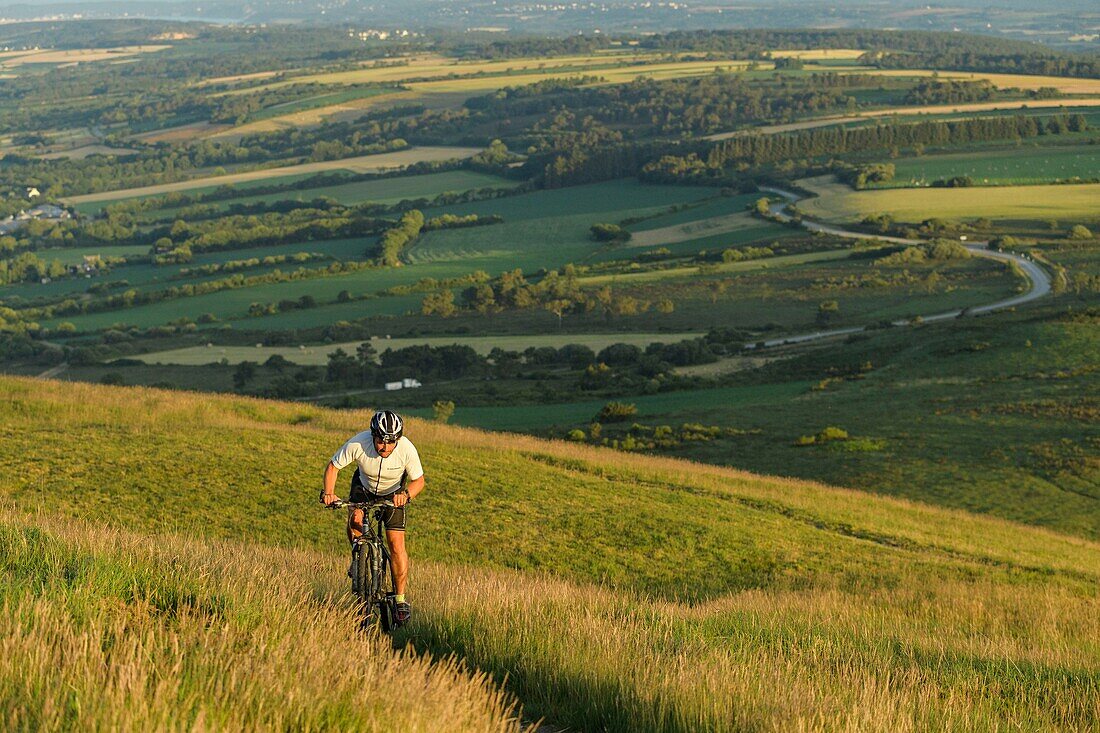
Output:
<instances>
[{"instance_id":1,"label":"tall dry golden grass in the foreground, right of the cyclist's trail","mask_svg":"<svg viewBox=\"0 0 1100 733\"><path fill-rule=\"evenodd\" d=\"M606 731L1094 731L1100 603L987 582L754 590L689 606L470 568L415 637ZM430 580L430 581L429 581Z\"/></svg>"}]
</instances>

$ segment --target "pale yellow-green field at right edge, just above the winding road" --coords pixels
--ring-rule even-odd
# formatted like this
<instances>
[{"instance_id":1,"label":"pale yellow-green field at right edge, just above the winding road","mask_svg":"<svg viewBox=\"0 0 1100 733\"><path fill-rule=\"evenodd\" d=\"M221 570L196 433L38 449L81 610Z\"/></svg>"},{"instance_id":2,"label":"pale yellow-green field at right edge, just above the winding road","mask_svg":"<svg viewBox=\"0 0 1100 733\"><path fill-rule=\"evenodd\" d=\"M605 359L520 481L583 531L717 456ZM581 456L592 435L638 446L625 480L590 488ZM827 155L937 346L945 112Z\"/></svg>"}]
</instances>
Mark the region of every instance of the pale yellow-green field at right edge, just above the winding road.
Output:
<instances>
[{"instance_id":1,"label":"pale yellow-green field at right edge, just above the winding road","mask_svg":"<svg viewBox=\"0 0 1100 733\"><path fill-rule=\"evenodd\" d=\"M853 190L833 176L804 178L799 185L817 194L799 201L805 215L850 221L870 214L889 214L898 221L932 217L1008 220L1100 219L1100 184L1076 186L1003 186L994 188L904 188Z\"/></svg>"}]
</instances>

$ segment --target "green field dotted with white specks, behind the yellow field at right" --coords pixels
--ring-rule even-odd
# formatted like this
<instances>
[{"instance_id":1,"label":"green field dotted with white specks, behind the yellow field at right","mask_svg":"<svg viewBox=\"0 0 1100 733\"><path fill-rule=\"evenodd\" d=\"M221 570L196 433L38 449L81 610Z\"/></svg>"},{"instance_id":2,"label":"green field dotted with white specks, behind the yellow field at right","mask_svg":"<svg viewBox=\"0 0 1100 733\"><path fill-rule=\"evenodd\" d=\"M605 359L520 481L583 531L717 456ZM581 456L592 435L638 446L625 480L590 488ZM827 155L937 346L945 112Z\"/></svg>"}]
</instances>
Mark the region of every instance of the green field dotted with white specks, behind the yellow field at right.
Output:
<instances>
[{"instance_id":1,"label":"green field dotted with white specks, behind the yellow field at right","mask_svg":"<svg viewBox=\"0 0 1100 733\"><path fill-rule=\"evenodd\" d=\"M927 186L954 176L970 176L976 186L1019 186L1100 177L1100 147L1097 145L1025 146L890 162L897 169L894 179L875 188Z\"/></svg>"}]
</instances>

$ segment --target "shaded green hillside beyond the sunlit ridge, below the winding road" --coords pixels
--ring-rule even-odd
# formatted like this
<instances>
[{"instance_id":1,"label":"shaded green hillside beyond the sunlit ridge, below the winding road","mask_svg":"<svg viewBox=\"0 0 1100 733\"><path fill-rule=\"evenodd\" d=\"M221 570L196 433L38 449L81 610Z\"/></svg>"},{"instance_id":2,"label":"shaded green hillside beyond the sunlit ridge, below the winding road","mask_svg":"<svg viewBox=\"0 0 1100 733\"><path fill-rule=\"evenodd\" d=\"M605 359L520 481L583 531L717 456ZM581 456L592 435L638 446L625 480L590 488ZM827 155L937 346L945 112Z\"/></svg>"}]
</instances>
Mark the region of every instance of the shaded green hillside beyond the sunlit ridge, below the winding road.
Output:
<instances>
[{"instance_id":1,"label":"shaded green hillside beyond the sunlit ridge, below the winding road","mask_svg":"<svg viewBox=\"0 0 1100 733\"><path fill-rule=\"evenodd\" d=\"M637 422L648 426L702 423L748 431L672 446L661 451L667 455L1100 539L1100 430L1090 396L1100 389L1094 325L1002 314L785 355L730 378L732 386L616 398L636 404ZM750 396L751 406L738 395ZM574 398L525 409L452 398L461 424L558 436L587 430L606 402ZM848 430L853 440L795 446L800 436L828 426ZM607 428L604 437L623 437Z\"/></svg>"}]
</instances>

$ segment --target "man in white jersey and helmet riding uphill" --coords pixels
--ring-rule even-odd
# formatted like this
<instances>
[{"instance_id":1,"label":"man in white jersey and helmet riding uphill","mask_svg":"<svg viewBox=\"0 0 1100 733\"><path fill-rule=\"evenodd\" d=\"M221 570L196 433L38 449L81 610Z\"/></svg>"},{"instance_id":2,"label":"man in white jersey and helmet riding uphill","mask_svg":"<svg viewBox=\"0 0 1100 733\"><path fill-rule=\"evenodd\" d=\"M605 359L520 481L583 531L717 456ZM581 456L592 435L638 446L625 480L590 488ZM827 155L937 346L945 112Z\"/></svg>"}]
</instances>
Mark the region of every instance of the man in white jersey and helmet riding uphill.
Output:
<instances>
[{"instance_id":1,"label":"man in white jersey and helmet riding uphill","mask_svg":"<svg viewBox=\"0 0 1100 733\"><path fill-rule=\"evenodd\" d=\"M329 506L337 500L337 474L340 469L358 464L351 480L351 502L375 499L393 501L393 507L383 510L386 543L389 545L394 569L396 621L406 623L413 609L405 600L409 556L405 549L405 507L424 490L424 468L413 441L403 436L405 424L397 413L384 409L371 418L371 428L353 436L336 452L324 467L324 489L321 502ZM348 541L354 543L363 534L364 513L361 508L348 511Z\"/></svg>"}]
</instances>

